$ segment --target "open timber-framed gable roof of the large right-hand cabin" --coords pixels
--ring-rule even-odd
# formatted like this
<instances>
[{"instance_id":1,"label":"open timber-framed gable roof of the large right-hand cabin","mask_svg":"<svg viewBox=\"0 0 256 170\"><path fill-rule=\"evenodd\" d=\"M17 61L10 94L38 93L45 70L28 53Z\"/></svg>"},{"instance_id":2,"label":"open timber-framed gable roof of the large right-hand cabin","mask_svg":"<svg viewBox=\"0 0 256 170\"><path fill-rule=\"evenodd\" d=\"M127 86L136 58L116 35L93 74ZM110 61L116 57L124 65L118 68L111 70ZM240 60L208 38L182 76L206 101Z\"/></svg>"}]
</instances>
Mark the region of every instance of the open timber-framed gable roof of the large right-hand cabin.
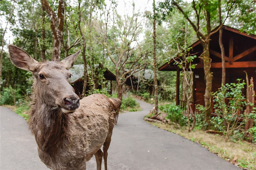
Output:
<instances>
[{"instance_id":1,"label":"open timber-framed gable roof of the large right-hand cabin","mask_svg":"<svg viewBox=\"0 0 256 170\"><path fill-rule=\"evenodd\" d=\"M225 51L226 68L248 68L256 67L256 35L248 35L235 28L223 26L222 43ZM212 30L214 32L217 28ZM221 68L221 51L219 45L219 31L210 37L211 68ZM203 46L196 41L190 47L191 55L196 55L193 63L196 68L203 68L203 61L199 58L203 53ZM171 59L158 68L159 71L176 71L178 68Z\"/></svg>"}]
</instances>

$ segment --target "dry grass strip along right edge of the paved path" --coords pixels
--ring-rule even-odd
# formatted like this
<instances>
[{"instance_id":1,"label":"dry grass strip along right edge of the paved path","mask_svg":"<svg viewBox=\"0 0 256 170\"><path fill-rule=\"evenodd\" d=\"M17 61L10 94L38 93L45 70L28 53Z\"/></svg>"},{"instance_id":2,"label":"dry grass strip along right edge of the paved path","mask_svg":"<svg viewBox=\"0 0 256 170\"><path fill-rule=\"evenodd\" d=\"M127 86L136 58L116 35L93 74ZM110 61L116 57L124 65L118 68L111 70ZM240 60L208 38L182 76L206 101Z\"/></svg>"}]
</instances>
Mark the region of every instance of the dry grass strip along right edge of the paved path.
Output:
<instances>
[{"instance_id":1,"label":"dry grass strip along right edge of the paved path","mask_svg":"<svg viewBox=\"0 0 256 170\"><path fill-rule=\"evenodd\" d=\"M148 122L153 126L175 133L182 137L185 137L193 142L199 143L210 152L217 154L220 158L232 162L236 166L245 169L256 170L256 145L246 141L228 141L225 142L225 138L219 135L208 134L203 130L194 129L188 133L186 127L176 129L174 125L165 123Z\"/></svg>"}]
</instances>

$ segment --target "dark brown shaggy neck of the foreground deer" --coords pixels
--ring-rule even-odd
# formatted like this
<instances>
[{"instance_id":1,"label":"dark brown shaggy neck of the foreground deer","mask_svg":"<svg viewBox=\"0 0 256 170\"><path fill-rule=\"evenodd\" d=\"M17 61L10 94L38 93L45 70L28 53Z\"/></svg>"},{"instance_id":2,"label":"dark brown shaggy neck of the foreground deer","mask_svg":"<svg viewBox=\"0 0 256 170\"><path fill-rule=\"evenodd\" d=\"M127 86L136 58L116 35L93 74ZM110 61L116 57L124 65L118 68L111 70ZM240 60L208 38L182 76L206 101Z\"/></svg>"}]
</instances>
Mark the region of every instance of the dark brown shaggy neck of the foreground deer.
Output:
<instances>
[{"instance_id":1,"label":"dark brown shaggy neck of the foreground deer","mask_svg":"<svg viewBox=\"0 0 256 170\"><path fill-rule=\"evenodd\" d=\"M69 116L56 107L32 101L29 129L35 135L36 143L42 150L56 152L69 139Z\"/></svg>"}]
</instances>

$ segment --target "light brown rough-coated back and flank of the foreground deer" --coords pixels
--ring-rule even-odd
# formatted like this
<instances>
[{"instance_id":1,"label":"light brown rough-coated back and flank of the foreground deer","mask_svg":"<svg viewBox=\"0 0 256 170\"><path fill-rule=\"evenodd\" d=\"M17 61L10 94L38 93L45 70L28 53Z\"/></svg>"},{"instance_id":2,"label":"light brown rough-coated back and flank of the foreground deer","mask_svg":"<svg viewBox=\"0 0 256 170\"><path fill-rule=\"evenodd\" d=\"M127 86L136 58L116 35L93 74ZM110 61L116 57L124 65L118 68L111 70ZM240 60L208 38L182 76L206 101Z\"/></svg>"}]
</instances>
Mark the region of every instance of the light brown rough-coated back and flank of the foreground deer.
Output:
<instances>
[{"instance_id":1,"label":"light brown rough-coated back and flank of the foreground deer","mask_svg":"<svg viewBox=\"0 0 256 170\"><path fill-rule=\"evenodd\" d=\"M75 133L84 133L86 161L104 144L109 126L114 126L114 105L102 94L92 94L80 100L80 107L71 114ZM113 127L112 127L113 128Z\"/></svg>"}]
</instances>

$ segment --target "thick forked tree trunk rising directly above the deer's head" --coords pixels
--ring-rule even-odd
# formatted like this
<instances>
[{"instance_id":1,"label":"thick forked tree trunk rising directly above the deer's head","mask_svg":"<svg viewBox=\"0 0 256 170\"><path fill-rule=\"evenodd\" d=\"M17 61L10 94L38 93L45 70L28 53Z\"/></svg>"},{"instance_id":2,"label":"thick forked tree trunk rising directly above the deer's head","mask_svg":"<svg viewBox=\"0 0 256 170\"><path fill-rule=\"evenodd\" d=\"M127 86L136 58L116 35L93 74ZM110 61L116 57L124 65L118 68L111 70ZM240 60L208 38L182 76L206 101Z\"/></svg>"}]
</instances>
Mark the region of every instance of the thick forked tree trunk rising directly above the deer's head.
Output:
<instances>
[{"instance_id":1,"label":"thick forked tree trunk rising directly above the deer's head","mask_svg":"<svg viewBox=\"0 0 256 170\"><path fill-rule=\"evenodd\" d=\"M44 10L47 12L49 17L51 18L51 32L52 32L52 61L60 61L60 49L61 49L61 41L63 40L63 26L64 26L64 0L59 0L58 7L58 27L57 27L57 17L51 6L46 0L41 0L42 6Z\"/></svg>"}]
</instances>

